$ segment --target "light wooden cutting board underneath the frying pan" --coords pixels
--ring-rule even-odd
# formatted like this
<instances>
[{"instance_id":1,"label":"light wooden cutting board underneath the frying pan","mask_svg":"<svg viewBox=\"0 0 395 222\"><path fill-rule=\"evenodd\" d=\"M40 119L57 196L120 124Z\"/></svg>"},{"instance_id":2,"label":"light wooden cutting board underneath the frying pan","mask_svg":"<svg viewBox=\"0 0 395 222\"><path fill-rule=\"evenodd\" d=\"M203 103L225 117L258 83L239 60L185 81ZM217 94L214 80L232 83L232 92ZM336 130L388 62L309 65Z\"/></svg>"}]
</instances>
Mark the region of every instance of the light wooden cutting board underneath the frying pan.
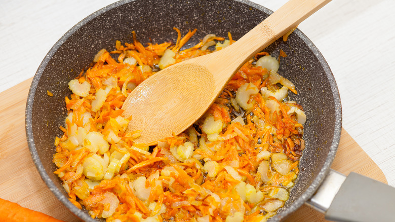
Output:
<instances>
[{"instance_id":1,"label":"light wooden cutting board underneath the frying pan","mask_svg":"<svg viewBox=\"0 0 395 222\"><path fill-rule=\"evenodd\" d=\"M47 188L30 157L25 133L26 98L32 79L0 93L0 198L65 221L80 221ZM351 171L386 183L379 167L343 129L332 168ZM286 221L326 221L324 215L302 206Z\"/></svg>"}]
</instances>

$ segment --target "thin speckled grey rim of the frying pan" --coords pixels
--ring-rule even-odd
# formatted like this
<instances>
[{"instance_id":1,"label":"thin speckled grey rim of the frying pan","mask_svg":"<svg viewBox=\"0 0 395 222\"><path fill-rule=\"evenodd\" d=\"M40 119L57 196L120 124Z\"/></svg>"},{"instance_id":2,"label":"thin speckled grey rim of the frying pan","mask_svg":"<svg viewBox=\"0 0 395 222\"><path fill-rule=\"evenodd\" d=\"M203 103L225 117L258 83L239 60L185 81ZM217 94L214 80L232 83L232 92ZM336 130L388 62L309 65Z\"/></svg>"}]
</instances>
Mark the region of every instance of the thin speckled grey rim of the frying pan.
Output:
<instances>
[{"instance_id":1,"label":"thin speckled grey rim of the frying pan","mask_svg":"<svg viewBox=\"0 0 395 222\"><path fill-rule=\"evenodd\" d=\"M43 61L39 65L34 78L32 80L30 90L28 93L27 97L27 102L26 102L26 111L25 111L25 129L26 129L26 136L27 136L27 143L28 147L30 150L30 154L32 156L34 165L36 166L39 174L41 175L42 179L44 182L47 184L47 187L50 189L50 191L55 195L55 197L62 202L63 205L65 205L70 212L75 214L77 217L85 220L85 221L90 221L94 222L97 221L96 219L92 218L89 216L88 213L84 212L83 210L78 209L76 206L74 206L63 194L62 191L60 191L57 186L54 184L54 182L51 180L49 177L48 173L46 172L44 165L41 161L41 159L38 156L35 143L34 143L34 138L33 138L33 129L32 129L32 105L33 105L33 99L34 95L36 92L36 89L38 87L38 82L41 79L41 76L48 64L48 62L51 60L52 56L57 52L57 50L62 46L62 44L78 29L83 27L86 23L89 21L95 19L96 17L102 15L103 13L110 11L116 7L122 6L124 4L134 2L136 0L121 0L119 2L113 3L111 5L108 5L91 15L87 16L84 18L82 21L78 22L75 24L72 28L70 28L56 43L55 45L51 48L51 50L47 53L47 55L44 57ZM240 2L245 5L248 5L250 7L253 7L259 11L262 11L266 14L271 14L272 11L258 5L256 3L250 2L248 0L233 0L235 2ZM305 203L313 194L314 192L319 188L320 184L326 177L326 175L330 171L330 166L332 165L332 162L335 158L336 152L337 152L337 147L339 145L340 141L340 135L341 135L341 129L342 129L342 111L341 111L341 101L340 101L340 95L339 91L336 85L335 78L333 76L333 73L326 62L324 56L321 54L321 52L318 50L317 47L307 38L307 36L300 31L299 29L296 29L294 31L295 34L298 35L298 37L308 46L308 48L313 52L314 56L319 60L321 66L324 69L325 75L328 78L331 91L332 91L332 96L334 99L334 108L335 108L335 127L334 127L334 134L333 134L333 139L332 143L330 145L330 149L327 155L327 158L325 160L324 166L321 168L320 172L318 175L314 178L314 180L310 183L308 188L304 191L304 193L296 199L289 207L285 208L281 212L278 212L276 215L274 215L272 218L270 218L270 221L281 221L285 217L287 217L289 214L297 210L299 207L302 206L303 203Z\"/></svg>"}]
</instances>

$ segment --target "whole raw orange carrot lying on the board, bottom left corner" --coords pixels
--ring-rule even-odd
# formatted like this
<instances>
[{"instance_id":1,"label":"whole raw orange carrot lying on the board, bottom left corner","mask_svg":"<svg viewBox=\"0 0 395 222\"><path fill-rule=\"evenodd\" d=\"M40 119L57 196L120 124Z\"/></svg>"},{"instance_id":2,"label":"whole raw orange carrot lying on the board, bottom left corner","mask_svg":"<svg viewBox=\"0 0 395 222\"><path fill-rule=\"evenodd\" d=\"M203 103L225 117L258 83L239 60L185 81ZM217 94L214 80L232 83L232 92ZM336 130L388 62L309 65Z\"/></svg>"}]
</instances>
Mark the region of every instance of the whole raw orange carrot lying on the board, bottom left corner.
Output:
<instances>
[{"instance_id":1,"label":"whole raw orange carrot lying on the board, bottom left corner","mask_svg":"<svg viewBox=\"0 0 395 222\"><path fill-rule=\"evenodd\" d=\"M0 220L7 222L62 222L42 212L24 208L17 203L0 198Z\"/></svg>"}]
</instances>

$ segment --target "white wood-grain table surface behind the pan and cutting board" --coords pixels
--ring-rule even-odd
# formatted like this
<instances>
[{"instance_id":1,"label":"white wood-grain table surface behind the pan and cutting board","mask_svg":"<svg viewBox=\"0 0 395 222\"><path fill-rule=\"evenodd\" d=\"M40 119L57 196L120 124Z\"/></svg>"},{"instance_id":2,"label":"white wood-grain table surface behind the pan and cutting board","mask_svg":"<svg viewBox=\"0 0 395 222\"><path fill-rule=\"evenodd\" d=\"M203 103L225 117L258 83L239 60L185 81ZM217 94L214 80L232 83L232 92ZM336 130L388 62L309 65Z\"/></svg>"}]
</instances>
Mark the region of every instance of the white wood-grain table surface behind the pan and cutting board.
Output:
<instances>
[{"instance_id":1,"label":"white wood-grain table surface behind the pan and cutting board","mask_svg":"<svg viewBox=\"0 0 395 222\"><path fill-rule=\"evenodd\" d=\"M113 2L2 1L0 92L33 77L44 56L68 29ZM253 2L277 10L286 0ZM393 0L333 0L299 28L333 71L342 100L343 128L395 187L393 9Z\"/></svg>"}]
</instances>

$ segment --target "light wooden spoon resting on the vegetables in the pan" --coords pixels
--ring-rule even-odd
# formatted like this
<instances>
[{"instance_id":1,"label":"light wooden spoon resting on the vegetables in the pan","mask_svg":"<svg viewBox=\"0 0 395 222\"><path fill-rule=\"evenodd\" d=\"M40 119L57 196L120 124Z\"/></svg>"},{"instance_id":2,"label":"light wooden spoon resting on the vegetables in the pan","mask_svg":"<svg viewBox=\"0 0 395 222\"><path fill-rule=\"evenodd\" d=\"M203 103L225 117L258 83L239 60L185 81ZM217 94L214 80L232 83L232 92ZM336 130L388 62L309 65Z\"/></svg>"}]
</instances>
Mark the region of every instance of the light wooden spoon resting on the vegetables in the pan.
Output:
<instances>
[{"instance_id":1,"label":"light wooden spoon resting on the vegetables in the pan","mask_svg":"<svg viewBox=\"0 0 395 222\"><path fill-rule=\"evenodd\" d=\"M247 60L330 1L291 0L225 49L155 73L122 106L124 116L132 116L127 131L141 130L135 141L147 145L183 132L206 112Z\"/></svg>"}]
</instances>

